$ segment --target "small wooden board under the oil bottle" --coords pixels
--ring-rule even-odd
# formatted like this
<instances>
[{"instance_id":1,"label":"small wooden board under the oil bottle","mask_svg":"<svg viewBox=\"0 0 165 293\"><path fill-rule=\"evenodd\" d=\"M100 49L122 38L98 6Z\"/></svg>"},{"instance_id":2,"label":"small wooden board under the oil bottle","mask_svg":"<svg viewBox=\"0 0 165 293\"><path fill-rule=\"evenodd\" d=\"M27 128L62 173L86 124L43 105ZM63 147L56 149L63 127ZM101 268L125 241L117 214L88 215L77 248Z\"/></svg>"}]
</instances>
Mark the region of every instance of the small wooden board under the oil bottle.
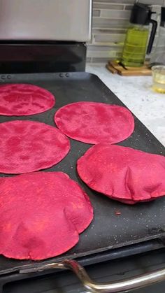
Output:
<instances>
[{"instance_id":1,"label":"small wooden board under the oil bottle","mask_svg":"<svg viewBox=\"0 0 165 293\"><path fill-rule=\"evenodd\" d=\"M125 67L125 68L124 68ZM113 74L120 76L151 76L152 71L148 68L148 62L141 67L127 67L118 64L116 61L109 61L106 68Z\"/></svg>"}]
</instances>

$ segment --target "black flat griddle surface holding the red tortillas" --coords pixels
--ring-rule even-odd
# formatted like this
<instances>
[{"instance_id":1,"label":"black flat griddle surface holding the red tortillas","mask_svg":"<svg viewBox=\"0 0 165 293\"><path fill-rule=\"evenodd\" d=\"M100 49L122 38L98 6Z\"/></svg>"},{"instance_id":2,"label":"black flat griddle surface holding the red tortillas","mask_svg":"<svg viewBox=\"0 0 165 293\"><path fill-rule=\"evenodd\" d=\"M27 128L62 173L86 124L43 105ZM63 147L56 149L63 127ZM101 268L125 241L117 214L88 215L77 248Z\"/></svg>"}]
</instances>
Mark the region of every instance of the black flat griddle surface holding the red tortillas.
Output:
<instances>
[{"instance_id":1,"label":"black flat griddle surface holding the red tortillas","mask_svg":"<svg viewBox=\"0 0 165 293\"><path fill-rule=\"evenodd\" d=\"M24 117L1 116L0 122L34 120L55 126L54 115L58 108L76 101L97 101L124 106L101 80L89 73L31 73L0 76L1 83L31 83L55 94L55 107L39 115ZM91 113L92 115L92 113ZM164 146L135 118L134 133L118 145L145 152L165 155ZM121 130L122 131L122 130ZM44 171L63 171L76 180L89 195L94 206L94 220L80 234L79 243L59 257L41 262L19 261L0 257L0 275L10 275L22 268L58 262L66 258L82 259L82 264L93 264L105 259L134 255L164 247L165 197L148 203L128 206L90 190L78 177L76 162L91 145L71 140L71 151L62 162ZM8 176L1 174L0 176ZM120 212L120 215L117 215ZM52 243L50 243L52 245Z\"/></svg>"}]
</instances>

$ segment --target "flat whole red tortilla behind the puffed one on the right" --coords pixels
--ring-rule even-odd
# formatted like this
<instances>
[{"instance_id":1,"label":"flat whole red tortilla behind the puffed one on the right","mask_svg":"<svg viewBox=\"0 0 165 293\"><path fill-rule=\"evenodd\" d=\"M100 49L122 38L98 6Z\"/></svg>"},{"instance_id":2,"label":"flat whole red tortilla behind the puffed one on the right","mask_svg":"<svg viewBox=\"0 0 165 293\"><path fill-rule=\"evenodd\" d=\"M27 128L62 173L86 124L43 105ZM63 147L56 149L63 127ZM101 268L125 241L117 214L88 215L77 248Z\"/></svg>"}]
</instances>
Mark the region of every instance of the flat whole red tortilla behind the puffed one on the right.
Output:
<instances>
[{"instance_id":1,"label":"flat whole red tortilla behind the puffed one on the right","mask_svg":"<svg viewBox=\"0 0 165 293\"><path fill-rule=\"evenodd\" d=\"M83 143L117 143L134 131L131 112L106 103L69 103L57 110L55 123L66 136Z\"/></svg>"}]
</instances>

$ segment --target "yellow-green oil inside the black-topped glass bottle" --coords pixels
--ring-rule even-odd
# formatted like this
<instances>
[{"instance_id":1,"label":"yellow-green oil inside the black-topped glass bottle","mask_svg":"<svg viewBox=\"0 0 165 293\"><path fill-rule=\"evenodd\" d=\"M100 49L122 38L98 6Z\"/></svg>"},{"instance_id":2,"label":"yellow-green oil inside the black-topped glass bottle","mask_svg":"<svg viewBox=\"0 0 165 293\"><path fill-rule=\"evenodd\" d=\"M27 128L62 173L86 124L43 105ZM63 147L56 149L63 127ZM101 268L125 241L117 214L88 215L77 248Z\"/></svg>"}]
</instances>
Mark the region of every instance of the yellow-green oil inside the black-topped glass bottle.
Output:
<instances>
[{"instance_id":1,"label":"yellow-green oil inside the black-topped glass bottle","mask_svg":"<svg viewBox=\"0 0 165 293\"><path fill-rule=\"evenodd\" d=\"M121 58L124 66L143 66L148 34L148 29L143 26L134 26L128 29Z\"/></svg>"}]
</instances>

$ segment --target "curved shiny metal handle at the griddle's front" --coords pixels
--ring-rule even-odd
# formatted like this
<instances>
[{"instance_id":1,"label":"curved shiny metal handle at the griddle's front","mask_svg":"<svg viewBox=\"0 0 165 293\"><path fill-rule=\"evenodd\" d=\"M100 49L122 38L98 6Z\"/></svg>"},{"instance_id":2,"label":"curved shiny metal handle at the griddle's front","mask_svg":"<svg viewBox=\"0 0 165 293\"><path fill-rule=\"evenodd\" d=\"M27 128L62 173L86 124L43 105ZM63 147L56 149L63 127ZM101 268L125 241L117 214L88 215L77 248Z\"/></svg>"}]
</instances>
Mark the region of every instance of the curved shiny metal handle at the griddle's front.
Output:
<instances>
[{"instance_id":1,"label":"curved shiny metal handle at the griddle's front","mask_svg":"<svg viewBox=\"0 0 165 293\"><path fill-rule=\"evenodd\" d=\"M20 269L20 273L33 273L38 271L45 271L48 269L71 269L76 276L78 276L82 285L88 290L88 292L101 292L101 293L116 293L126 292L154 283L165 280L165 269L159 269L152 273L145 273L141 276L129 278L118 282L111 283L96 283L89 278L85 269L78 264L75 260L66 259L61 263L45 264L42 266L36 266L32 269Z\"/></svg>"}]
</instances>

